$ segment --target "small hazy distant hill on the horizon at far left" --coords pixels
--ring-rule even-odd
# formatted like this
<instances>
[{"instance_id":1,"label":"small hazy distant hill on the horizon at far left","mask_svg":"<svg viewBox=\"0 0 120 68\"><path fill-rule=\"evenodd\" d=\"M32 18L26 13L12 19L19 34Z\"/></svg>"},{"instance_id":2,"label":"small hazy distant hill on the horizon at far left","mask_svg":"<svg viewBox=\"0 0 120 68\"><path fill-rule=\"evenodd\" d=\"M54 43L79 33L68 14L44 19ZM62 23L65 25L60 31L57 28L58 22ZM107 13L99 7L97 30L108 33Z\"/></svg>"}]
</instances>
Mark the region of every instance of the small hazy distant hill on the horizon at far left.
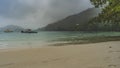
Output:
<instances>
[{"instance_id":1,"label":"small hazy distant hill on the horizon at far left","mask_svg":"<svg viewBox=\"0 0 120 68\"><path fill-rule=\"evenodd\" d=\"M20 27L20 26L16 26L16 25L8 25L5 27L0 28L0 31L5 31L5 30L10 30L10 31L14 31L14 32L19 32L21 30L24 30L24 28Z\"/></svg>"}]
</instances>

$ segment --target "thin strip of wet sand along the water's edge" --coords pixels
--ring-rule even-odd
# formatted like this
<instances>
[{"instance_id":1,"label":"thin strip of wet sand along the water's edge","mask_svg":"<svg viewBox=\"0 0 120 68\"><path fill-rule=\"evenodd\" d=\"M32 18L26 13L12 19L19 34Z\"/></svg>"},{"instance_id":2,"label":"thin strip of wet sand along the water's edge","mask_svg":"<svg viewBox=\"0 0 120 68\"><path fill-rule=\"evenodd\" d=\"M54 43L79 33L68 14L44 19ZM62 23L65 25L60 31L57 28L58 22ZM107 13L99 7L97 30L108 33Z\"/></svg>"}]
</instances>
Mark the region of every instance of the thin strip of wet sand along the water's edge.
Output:
<instances>
[{"instance_id":1,"label":"thin strip of wet sand along the water's edge","mask_svg":"<svg viewBox=\"0 0 120 68\"><path fill-rule=\"evenodd\" d=\"M103 43L114 43L114 42L120 42L119 40L117 41L104 41L104 42L90 42L90 43L69 43L69 42L55 42L55 43L49 43L43 46L38 46L38 47L11 47L11 48L1 48L0 52L7 52L7 51L21 51L21 50L29 50L29 49L41 49L41 48L51 48L51 47L69 47L69 46L84 46L84 45L91 45L94 46L94 44L103 44ZM38 45L38 44L37 44Z\"/></svg>"}]
</instances>

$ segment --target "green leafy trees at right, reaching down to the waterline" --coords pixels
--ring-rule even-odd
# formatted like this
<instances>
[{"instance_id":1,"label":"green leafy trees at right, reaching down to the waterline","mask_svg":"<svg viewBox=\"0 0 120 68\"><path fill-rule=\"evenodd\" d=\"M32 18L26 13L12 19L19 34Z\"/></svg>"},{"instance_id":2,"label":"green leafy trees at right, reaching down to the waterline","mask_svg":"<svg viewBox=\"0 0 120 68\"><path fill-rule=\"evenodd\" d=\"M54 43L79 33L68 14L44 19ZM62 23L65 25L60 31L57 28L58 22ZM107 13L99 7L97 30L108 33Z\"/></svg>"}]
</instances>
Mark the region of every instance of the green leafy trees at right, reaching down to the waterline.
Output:
<instances>
[{"instance_id":1,"label":"green leafy trees at right, reaching down to the waterline","mask_svg":"<svg viewBox=\"0 0 120 68\"><path fill-rule=\"evenodd\" d=\"M103 8L98 17L88 23L88 30L120 31L120 0L91 0L95 7Z\"/></svg>"}]
</instances>

